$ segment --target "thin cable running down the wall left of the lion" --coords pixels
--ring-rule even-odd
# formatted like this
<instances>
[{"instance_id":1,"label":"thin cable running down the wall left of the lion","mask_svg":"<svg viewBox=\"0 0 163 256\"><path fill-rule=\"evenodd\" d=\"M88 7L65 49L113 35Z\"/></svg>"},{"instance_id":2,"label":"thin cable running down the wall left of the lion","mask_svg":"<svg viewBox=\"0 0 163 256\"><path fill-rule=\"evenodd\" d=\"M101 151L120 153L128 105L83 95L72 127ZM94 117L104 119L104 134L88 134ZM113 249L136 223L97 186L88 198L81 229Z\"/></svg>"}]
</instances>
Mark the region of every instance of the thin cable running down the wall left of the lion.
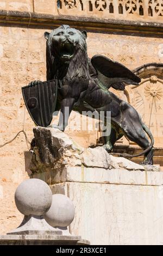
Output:
<instances>
[{"instance_id":1,"label":"thin cable running down the wall left of the lion","mask_svg":"<svg viewBox=\"0 0 163 256\"><path fill-rule=\"evenodd\" d=\"M28 23L28 26L27 26L27 78L28 78L28 65L29 65L29 26L30 26L30 22L31 22L31 19L32 19L32 15L29 13L29 16L30 16L30 19L29 19L29 23ZM13 142L17 138L17 136L20 135L20 133L23 133L24 136L25 136L25 139L26 139L28 150L29 150L28 144L30 144L30 142L29 142L29 139L27 137L27 133L24 130L25 119L26 119L26 106L24 105L24 117L23 117L22 130L17 132L16 136L14 138L12 138L10 141L5 142L4 144L0 145L0 148L4 147L5 145L7 145L11 142Z\"/></svg>"}]
</instances>

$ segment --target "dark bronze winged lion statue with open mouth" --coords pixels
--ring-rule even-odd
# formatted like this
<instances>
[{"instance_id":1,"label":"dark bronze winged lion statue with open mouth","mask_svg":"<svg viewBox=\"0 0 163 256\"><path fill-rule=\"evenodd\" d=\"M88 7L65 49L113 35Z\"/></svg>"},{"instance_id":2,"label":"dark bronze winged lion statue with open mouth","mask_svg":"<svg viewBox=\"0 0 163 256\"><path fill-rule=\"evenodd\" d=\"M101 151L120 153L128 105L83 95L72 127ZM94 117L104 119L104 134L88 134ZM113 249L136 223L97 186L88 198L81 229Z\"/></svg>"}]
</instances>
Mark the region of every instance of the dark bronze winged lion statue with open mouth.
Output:
<instances>
[{"instance_id":1,"label":"dark bronze winged lion statue with open mouth","mask_svg":"<svg viewBox=\"0 0 163 256\"><path fill-rule=\"evenodd\" d=\"M89 59L86 37L85 31L80 32L67 25L51 33L45 32L47 81L54 81L53 86L57 88L55 111L60 110L64 118L59 118L57 128L65 130L72 109L79 113L110 111L111 132L109 136L104 136L103 145L106 151L111 152L115 142L126 136L143 149L139 154L145 156L141 164L153 164L154 139L151 131L129 103L108 90L110 87L124 90L127 84L138 85L140 78L125 66L104 56L96 55ZM29 86L34 87L39 83L33 81ZM35 107L34 104L32 107ZM65 115L65 107L69 108L68 115ZM123 156L133 157L128 154Z\"/></svg>"}]
</instances>

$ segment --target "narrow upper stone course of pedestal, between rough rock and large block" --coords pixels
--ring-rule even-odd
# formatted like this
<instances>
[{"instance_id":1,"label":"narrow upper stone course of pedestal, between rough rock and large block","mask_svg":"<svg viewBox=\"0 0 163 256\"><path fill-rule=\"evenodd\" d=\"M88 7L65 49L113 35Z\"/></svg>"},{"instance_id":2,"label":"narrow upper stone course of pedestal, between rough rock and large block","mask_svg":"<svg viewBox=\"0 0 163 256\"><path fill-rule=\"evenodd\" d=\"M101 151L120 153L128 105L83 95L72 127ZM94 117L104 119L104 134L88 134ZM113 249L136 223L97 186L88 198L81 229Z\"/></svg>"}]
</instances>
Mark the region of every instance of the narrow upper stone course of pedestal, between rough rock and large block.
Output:
<instances>
[{"instance_id":1,"label":"narrow upper stone course of pedestal, between rough rock and large block","mask_svg":"<svg viewBox=\"0 0 163 256\"><path fill-rule=\"evenodd\" d=\"M32 175L49 185L61 182L90 182L104 184L153 185L163 184L163 172L147 170L104 169L98 167L65 167L62 170L49 170Z\"/></svg>"}]
</instances>

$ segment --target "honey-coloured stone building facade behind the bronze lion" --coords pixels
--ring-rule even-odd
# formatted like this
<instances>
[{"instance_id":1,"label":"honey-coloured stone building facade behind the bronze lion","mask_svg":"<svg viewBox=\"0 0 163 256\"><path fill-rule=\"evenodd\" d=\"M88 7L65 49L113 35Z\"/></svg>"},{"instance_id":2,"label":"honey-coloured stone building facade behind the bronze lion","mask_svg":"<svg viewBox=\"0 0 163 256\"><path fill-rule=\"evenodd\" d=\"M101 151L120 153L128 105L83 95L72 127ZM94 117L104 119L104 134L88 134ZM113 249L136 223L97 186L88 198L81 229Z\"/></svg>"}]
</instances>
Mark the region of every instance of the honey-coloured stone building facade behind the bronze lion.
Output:
<instances>
[{"instance_id":1,"label":"honey-coloured stone building facade behind the bronze lion","mask_svg":"<svg viewBox=\"0 0 163 256\"><path fill-rule=\"evenodd\" d=\"M0 2L0 145L24 130L29 141L34 123L24 108L21 87L46 80L45 31L68 24L87 31L88 55L103 54L134 70L139 87L115 92L140 112L155 138L155 163L163 166L163 0L1 0ZM71 120L75 113L72 113ZM97 131L71 131L68 135L87 147L96 143ZM22 217L14 205L14 191L28 178L23 133L0 151L0 229L6 233ZM115 151L139 151L123 138ZM135 160L135 161L140 161Z\"/></svg>"}]
</instances>

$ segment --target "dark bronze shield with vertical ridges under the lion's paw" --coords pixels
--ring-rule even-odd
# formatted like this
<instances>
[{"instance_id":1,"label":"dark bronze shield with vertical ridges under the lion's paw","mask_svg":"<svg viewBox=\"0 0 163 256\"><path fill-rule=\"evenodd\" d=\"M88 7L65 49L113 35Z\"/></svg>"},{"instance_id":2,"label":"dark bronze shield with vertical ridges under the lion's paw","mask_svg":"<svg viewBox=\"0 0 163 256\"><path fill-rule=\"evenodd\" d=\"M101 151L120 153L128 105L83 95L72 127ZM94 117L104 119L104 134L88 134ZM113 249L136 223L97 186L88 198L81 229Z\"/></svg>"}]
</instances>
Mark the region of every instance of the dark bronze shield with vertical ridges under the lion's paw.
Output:
<instances>
[{"instance_id":1,"label":"dark bronze shield with vertical ridges under the lion's paw","mask_svg":"<svg viewBox=\"0 0 163 256\"><path fill-rule=\"evenodd\" d=\"M55 80L22 87L24 102L37 126L47 127L51 124L57 102L57 91L58 83Z\"/></svg>"}]
</instances>

